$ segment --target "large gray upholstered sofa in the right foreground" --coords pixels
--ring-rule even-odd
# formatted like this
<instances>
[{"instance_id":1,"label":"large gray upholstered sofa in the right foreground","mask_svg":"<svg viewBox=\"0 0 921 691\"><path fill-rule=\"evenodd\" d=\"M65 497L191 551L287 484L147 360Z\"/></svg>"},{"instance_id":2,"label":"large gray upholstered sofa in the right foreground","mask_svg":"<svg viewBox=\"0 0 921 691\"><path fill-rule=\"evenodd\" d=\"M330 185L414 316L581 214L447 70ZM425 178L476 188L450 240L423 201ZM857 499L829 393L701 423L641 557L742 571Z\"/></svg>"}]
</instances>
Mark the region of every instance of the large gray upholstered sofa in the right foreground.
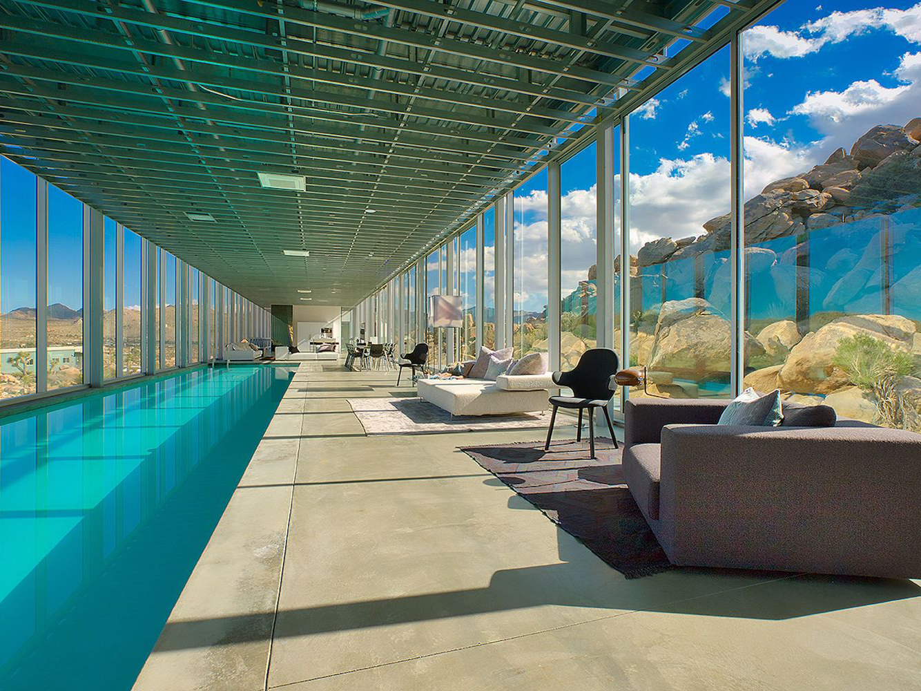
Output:
<instances>
[{"instance_id":1,"label":"large gray upholstered sofa in the right foreground","mask_svg":"<svg viewBox=\"0 0 921 691\"><path fill-rule=\"evenodd\" d=\"M921 435L717 426L727 403L624 409L624 477L673 564L921 578Z\"/></svg>"}]
</instances>

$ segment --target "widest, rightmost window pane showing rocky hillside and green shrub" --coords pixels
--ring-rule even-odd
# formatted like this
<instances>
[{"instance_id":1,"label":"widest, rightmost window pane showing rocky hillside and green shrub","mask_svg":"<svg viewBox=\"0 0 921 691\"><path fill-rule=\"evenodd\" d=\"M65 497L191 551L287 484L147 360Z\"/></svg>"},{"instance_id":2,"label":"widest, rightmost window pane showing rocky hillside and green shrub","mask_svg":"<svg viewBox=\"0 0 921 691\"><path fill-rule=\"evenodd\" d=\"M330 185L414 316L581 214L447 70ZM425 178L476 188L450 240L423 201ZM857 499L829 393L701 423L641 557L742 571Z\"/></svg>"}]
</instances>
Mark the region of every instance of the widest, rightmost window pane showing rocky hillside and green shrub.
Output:
<instances>
[{"instance_id":1,"label":"widest, rightmost window pane showing rocky hillside and green shrub","mask_svg":"<svg viewBox=\"0 0 921 691\"><path fill-rule=\"evenodd\" d=\"M745 383L921 431L917 7L879 5L742 34Z\"/></svg>"}]
</instances>

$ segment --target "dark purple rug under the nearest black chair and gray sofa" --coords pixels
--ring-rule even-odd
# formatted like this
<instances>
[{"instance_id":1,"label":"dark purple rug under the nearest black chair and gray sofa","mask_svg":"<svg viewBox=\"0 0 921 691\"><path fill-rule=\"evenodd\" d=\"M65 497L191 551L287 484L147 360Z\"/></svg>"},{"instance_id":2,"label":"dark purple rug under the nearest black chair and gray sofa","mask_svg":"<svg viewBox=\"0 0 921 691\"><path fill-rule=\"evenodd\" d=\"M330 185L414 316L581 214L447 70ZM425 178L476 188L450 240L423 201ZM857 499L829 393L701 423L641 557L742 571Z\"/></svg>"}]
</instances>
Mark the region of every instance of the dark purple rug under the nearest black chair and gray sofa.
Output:
<instances>
[{"instance_id":1,"label":"dark purple rug under the nearest black chair and gray sofa","mask_svg":"<svg viewBox=\"0 0 921 691\"><path fill-rule=\"evenodd\" d=\"M461 447L474 461L526 499L601 561L628 579L670 567L624 483L621 451L609 439L542 441Z\"/></svg>"}]
</instances>

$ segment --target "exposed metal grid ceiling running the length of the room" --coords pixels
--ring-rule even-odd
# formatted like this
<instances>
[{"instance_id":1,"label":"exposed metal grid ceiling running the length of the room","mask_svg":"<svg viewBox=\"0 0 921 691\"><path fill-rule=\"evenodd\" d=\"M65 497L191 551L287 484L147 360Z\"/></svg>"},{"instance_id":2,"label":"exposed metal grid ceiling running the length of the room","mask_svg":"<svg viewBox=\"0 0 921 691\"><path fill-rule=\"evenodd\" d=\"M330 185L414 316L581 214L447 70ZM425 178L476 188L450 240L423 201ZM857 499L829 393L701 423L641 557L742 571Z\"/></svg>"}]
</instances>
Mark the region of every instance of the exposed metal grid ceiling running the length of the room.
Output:
<instances>
[{"instance_id":1,"label":"exposed metal grid ceiling running the length of the room","mask_svg":"<svg viewBox=\"0 0 921 691\"><path fill-rule=\"evenodd\" d=\"M0 153L257 304L350 306L776 3L0 0Z\"/></svg>"}]
</instances>

